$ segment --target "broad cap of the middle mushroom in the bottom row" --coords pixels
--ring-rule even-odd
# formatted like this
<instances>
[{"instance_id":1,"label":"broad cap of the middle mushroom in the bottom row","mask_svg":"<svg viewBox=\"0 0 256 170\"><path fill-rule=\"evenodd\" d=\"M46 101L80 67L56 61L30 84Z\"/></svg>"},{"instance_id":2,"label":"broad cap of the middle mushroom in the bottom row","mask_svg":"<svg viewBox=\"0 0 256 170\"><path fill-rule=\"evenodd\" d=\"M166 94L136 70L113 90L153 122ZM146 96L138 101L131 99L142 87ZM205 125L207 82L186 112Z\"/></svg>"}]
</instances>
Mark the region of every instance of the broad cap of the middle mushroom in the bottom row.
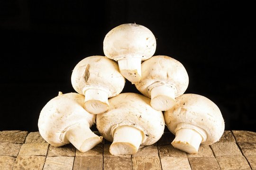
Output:
<instances>
[{"instance_id":1,"label":"broad cap of the middle mushroom in the bottom row","mask_svg":"<svg viewBox=\"0 0 256 170\"><path fill-rule=\"evenodd\" d=\"M141 129L146 135L142 145L154 144L163 135L163 113L151 107L149 98L137 93L120 93L110 98L109 103L109 110L96 116L96 126L108 141L113 141L111 128L118 125Z\"/></svg>"}]
</instances>

